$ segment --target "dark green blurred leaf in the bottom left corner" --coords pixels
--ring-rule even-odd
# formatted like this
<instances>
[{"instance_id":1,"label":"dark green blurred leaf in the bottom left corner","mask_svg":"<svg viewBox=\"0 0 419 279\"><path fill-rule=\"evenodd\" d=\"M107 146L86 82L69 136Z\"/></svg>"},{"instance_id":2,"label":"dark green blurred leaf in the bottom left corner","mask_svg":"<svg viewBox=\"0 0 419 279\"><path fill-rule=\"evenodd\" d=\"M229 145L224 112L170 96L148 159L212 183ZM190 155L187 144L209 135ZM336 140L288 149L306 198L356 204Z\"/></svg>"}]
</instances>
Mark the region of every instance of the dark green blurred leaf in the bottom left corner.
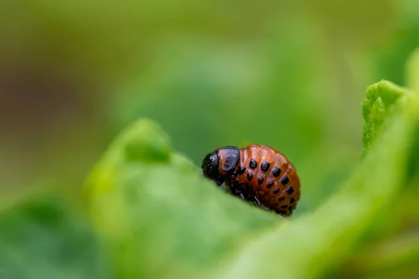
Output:
<instances>
[{"instance_id":1,"label":"dark green blurred leaf in the bottom left corner","mask_svg":"<svg viewBox=\"0 0 419 279\"><path fill-rule=\"evenodd\" d=\"M27 197L0 216L0 278L112 278L91 228L57 197Z\"/></svg>"}]
</instances>

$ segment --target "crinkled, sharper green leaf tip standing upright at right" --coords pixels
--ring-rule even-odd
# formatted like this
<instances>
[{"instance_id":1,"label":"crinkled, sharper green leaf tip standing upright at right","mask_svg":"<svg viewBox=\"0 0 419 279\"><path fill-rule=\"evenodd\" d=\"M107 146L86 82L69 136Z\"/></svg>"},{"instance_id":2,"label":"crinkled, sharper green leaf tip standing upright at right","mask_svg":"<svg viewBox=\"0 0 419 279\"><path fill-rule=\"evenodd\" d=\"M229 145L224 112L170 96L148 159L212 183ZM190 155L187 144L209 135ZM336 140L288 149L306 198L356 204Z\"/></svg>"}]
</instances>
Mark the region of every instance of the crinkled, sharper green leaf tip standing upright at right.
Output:
<instances>
[{"instance_id":1,"label":"crinkled, sharper green leaf tip standing upright at right","mask_svg":"<svg viewBox=\"0 0 419 279\"><path fill-rule=\"evenodd\" d=\"M412 93L392 82L382 80L368 87L362 103L364 135L362 157L365 157L381 129L385 119L395 113L399 103L406 103Z\"/></svg>"}]
</instances>

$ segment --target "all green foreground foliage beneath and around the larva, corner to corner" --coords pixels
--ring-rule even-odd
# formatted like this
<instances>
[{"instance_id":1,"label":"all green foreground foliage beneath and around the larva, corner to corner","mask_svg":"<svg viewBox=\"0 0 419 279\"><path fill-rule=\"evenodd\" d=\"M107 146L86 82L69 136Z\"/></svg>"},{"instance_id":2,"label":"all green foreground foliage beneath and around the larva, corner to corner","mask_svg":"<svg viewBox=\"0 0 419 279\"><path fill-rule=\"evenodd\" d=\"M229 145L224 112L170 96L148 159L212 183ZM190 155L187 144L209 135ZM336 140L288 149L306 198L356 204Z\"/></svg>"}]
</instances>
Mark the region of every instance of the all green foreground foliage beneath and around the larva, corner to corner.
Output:
<instances>
[{"instance_id":1,"label":"all green foreground foliage beneath and around the larva, corner to corner","mask_svg":"<svg viewBox=\"0 0 419 279\"><path fill-rule=\"evenodd\" d=\"M419 221L419 161L412 156L419 150L419 100L382 81L367 90L363 113L362 163L321 206L289 219L227 195L172 150L156 123L135 122L87 179L82 212L93 230L59 198L25 199L3 209L0 272L6 278L417 275L419 232L400 225L406 211L394 207L404 200L413 209L409 222ZM410 236L399 241L401 234Z\"/></svg>"}]
</instances>

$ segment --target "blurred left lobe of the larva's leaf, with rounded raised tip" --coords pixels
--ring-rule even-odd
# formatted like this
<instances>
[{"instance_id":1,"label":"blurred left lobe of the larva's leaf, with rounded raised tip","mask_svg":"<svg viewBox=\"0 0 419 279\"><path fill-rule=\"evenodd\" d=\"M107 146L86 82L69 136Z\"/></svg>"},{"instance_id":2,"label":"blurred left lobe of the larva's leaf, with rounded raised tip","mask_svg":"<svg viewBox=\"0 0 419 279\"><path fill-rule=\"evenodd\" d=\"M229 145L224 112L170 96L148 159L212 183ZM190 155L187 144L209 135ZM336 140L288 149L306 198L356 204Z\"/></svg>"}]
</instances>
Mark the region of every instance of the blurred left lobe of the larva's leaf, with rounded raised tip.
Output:
<instances>
[{"instance_id":1,"label":"blurred left lobe of the larva's leaf, with rounded raised tip","mask_svg":"<svg viewBox=\"0 0 419 279\"><path fill-rule=\"evenodd\" d=\"M244 242L285 220L226 195L189 160L168 154L168 142L151 121L138 121L87 181L91 217L119 278L209 276ZM130 146L149 155L132 156Z\"/></svg>"}]
</instances>

